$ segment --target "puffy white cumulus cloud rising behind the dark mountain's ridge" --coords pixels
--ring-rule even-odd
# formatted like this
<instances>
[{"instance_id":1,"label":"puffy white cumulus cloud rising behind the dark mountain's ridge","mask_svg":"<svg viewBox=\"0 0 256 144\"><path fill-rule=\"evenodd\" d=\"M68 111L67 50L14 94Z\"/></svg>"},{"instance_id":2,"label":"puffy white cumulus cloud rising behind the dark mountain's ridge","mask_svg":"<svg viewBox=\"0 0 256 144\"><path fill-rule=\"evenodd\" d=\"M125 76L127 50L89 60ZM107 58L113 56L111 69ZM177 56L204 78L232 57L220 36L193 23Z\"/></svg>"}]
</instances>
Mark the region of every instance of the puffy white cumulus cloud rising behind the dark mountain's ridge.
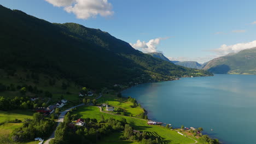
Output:
<instances>
[{"instance_id":1,"label":"puffy white cumulus cloud rising behind the dark mountain's ridge","mask_svg":"<svg viewBox=\"0 0 256 144\"><path fill-rule=\"evenodd\" d=\"M147 43L145 41L137 40L137 43L131 44L130 45L137 50L141 50L142 52L161 52L158 49L158 45L160 43L160 40L165 40L168 39L169 37L166 38L156 38L156 39L151 39Z\"/></svg>"}]
</instances>

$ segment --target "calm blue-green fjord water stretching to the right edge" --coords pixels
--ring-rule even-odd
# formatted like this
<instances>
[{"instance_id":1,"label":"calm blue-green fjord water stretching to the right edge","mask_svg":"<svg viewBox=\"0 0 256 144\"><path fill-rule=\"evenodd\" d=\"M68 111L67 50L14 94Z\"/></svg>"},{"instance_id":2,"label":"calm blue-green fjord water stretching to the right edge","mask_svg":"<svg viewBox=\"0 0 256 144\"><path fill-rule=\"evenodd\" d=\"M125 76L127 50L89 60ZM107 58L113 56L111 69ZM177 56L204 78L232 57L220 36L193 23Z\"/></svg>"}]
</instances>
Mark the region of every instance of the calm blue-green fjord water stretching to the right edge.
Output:
<instances>
[{"instance_id":1,"label":"calm blue-green fjord water stretching to the right edge","mask_svg":"<svg viewBox=\"0 0 256 144\"><path fill-rule=\"evenodd\" d=\"M202 127L223 143L256 143L256 75L187 77L146 83L123 91L149 119L173 127ZM211 131L213 129L213 131Z\"/></svg>"}]
</instances>

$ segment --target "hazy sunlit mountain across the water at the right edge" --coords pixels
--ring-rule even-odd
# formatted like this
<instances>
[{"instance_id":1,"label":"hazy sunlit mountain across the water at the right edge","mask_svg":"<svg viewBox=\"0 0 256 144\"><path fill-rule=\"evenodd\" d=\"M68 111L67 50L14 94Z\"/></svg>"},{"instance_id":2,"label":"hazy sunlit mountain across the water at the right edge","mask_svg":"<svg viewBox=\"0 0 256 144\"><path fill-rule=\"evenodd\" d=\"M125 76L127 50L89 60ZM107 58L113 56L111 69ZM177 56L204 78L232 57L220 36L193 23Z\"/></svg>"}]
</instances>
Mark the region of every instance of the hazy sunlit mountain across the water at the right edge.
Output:
<instances>
[{"instance_id":1,"label":"hazy sunlit mountain across the water at the right edge","mask_svg":"<svg viewBox=\"0 0 256 144\"><path fill-rule=\"evenodd\" d=\"M214 58L203 68L216 74L256 74L256 47Z\"/></svg>"}]
</instances>

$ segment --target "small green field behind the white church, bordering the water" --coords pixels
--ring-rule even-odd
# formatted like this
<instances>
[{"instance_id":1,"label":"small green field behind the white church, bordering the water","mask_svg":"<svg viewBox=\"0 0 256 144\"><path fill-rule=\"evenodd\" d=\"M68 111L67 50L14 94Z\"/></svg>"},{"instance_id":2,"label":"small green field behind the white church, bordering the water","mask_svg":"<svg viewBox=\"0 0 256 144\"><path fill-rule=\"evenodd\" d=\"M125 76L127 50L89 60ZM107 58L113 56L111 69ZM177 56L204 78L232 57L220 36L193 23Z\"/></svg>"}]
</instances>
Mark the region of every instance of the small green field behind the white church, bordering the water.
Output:
<instances>
[{"instance_id":1,"label":"small green field behind the white church, bordering the water","mask_svg":"<svg viewBox=\"0 0 256 144\"><path fill-rule=\"evenodd\" d=\"M139 106L131 107L133 104L131 101L128 101L126 98L118 98L115 94L103 94L103 96L97 100L98 103L107 103L114 107L120 107L125 110L127 115L136 116L140 113L143 113L143 109Z\"/></svg>"}]
</instances>

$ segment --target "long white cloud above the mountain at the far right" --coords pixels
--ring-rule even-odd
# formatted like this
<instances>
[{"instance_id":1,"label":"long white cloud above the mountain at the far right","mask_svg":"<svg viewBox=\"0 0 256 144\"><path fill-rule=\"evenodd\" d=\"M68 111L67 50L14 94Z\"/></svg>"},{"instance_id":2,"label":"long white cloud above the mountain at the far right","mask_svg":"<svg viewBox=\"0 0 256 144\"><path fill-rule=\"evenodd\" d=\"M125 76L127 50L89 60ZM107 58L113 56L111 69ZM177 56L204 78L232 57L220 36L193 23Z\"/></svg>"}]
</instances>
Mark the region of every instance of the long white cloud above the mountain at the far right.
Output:
<instances>
[{"instance_id":1,"label":"long white cloud above the mountain at the far right","mask_svg":"<svg viewBox=\"0 0 256 144\"><path fill-rule=\"evenodd\" d=\"M239 43L235 45L221 45L218 49L212 50L212 52L217 53L218 56L227 55L230 52L239 52L245 49L251 49L256 47L256 40L248 43Z\"/></svg>"}]
</instances>

